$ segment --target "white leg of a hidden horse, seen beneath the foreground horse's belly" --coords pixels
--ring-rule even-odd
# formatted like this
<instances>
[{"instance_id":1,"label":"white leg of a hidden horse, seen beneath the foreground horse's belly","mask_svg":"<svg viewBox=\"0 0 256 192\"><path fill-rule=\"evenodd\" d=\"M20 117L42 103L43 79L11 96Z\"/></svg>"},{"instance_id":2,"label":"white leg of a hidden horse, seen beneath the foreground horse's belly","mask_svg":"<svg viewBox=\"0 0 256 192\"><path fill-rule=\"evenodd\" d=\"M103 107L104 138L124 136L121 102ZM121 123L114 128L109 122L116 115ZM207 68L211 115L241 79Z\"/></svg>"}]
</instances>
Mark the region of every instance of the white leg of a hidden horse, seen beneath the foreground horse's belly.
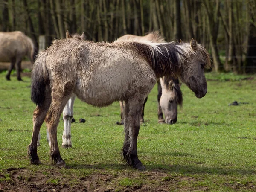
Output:
<instances>
[{"instance_id":1,"label":"white leg of a hidden horse, seen beneath the foreground horse's belly","mask_svg":"<svg viewBox=\"0 0 256 192\"><path fill-rule=\"evenodd\" d=\"M71 122L73 118L73 106L76 95L73 93L63 110L64 130L62 135L62 147L72 147L71 143Z\"/></svg>"}]
</instances>

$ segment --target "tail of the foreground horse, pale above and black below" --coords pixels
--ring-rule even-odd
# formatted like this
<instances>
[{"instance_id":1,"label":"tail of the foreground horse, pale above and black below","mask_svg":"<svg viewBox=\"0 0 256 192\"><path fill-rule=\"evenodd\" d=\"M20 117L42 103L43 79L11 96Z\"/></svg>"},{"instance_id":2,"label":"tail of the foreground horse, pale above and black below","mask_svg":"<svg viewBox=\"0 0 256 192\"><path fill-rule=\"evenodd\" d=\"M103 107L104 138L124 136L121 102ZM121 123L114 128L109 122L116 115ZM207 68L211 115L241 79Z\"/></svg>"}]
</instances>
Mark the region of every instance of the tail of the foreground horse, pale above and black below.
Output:
<instances>
[{"instance_id":1,"label":"tail of the foreground horse, pale above and black below","mask_svg":"<svg viewBox=\"0 0 256 192\"><path fill-rule=\"evenodd\" d=\"M46 68L47 52L40 52L35 60L31 75L31 100L41 107L44 103L46 86L50 84Z\"/></svg>"}]
</instances>

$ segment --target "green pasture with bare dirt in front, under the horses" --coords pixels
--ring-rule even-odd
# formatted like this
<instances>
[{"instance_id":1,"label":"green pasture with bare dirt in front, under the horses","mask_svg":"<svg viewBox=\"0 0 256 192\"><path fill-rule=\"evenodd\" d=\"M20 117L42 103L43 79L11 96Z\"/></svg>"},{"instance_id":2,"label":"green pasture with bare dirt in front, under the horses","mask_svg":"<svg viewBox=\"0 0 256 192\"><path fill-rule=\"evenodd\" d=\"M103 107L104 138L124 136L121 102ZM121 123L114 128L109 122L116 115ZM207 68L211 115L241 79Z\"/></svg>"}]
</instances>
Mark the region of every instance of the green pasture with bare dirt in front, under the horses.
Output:
<instances>
[{"instance_id":1,"label":"green pasture with bare dirt in front, under the horses","mask_svg":"<svg viewBox=\"0 0 256 192\"><path fill-rule=\"evenodd\" d=\"M78 99L67 168L50 164L45 124L38 156L29 163L32 136L30 79L0 74L0 191L256 191L256 77L207 73L208 93L197 99L184 84L175 125L157 124L157 89L145 105L138 155L146 171L122 161L119 103L95 108ZM233 101L238 106L228 106ZM78 119L86 119L79 123ZM62 143L64 123L58 126Z\"/></svg>"}]
</instances>

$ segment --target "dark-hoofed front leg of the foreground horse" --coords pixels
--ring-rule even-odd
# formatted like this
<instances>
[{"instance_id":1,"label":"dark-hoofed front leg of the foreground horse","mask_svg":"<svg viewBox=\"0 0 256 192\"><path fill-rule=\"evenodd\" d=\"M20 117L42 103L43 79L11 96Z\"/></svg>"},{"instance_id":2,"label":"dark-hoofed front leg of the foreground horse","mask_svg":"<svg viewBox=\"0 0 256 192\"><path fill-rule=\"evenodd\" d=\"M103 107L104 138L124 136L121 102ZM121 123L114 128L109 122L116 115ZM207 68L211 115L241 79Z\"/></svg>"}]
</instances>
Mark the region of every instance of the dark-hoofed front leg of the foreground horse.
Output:
<instances>
[{"instance_id":1,"label":"dark-hoofed front leg of the foreground horse","mask_svg":"<svg viewBox=\"0 0 256 192\"><path fill-rule=\"evenodd\" d=\"M125 109L125 142L123 156L126 162L139 170L145 170L137 154L137 139L140 131L140 116L143 108L143 100L134 99L128 101Z\"/></svg>"}]
</instances>

